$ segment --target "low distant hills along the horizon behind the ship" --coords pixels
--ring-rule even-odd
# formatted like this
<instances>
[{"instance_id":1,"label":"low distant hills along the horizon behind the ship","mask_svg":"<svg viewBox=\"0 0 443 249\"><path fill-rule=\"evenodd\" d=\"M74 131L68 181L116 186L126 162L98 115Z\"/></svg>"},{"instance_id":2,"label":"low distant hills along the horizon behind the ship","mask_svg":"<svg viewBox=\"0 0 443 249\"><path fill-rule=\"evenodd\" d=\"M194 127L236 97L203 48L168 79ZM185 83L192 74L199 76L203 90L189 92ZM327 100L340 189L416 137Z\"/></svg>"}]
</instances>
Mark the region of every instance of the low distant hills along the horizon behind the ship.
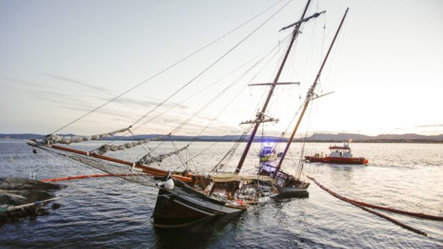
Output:
<instances>
[{"instance_id":1,"label":"low distant hills along the horizon behind the ship","mask_svg":"<svg viewBox=\"0 0 443 249\"><path fill-rule=\"evenodd\" d=\"M73 134L63 134L64 136L73 136ZM42 138L44 135L34 134L34 133L21 133L21 134L0 134L0 139L27 139L27 138ZM136 138L133 136L118 137L110 136L104 140L144 140L148 138L156 138L161 135L150 134L150 135L138 135ZM163 138L163 140L175 140L175 141L224 141L232 142L237 141L241 138L240 135L230 135L230 136L171 136L171 138ZM288 138L284 138L287 141ZM419 134L381 134L378 136L366 136L356 133L338 133L338 134L326 134L318 133L310 136L308 140L314 142L343 142L352 139L354 142L443 142L443 134L436 136L425 136ZM245 141L246 139L244 139ZM270 142L277 141L278 137L269 136L262 138L257 136L254 142L260 142L261 140L268 140ZM300 141L300 138L295 139Z\"/></svg>"}]
</instances>

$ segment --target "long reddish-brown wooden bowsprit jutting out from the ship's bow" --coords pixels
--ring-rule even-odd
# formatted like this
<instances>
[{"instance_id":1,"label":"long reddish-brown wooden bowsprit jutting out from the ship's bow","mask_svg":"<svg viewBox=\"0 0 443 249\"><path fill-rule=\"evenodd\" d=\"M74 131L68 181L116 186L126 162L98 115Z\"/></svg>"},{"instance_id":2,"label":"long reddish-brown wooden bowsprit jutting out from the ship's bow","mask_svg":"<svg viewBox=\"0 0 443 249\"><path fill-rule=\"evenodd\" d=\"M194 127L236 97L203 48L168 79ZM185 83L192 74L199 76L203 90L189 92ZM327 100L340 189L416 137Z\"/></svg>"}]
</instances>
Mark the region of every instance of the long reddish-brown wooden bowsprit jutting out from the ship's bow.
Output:
<instances>
[{"instance_id":1,"label":"long reddish-brown wooden bowsprit jutting out from the ship's bow","mask_svg":"<svg viewBox=\"0 0 443 249\"><path fill-rule=\"evenodd\" d=\"M131 162L128 162L128 161L125 161L125 160L120 160L120 159L117 159L117 158L111 158L109 156L90 154L87 151L80 151L78 149L71 149L71 148L66 148L66 147L62 147L62 146L58 146L58 145L52 145L51 147L53 149L59 149L59 150L62 150L62 151L68 151L68 152L71 152L71 153L80 154L80 155L84 155L84 156L91 156L93 158L99 158L99 159L102 159L102 160L107 160L107 161L114 162L114 163L120 163L120 164L128 165L128 166L131 166L131 167L134 166L134 167L136 167L138 169L141 169L143 173L153 174L154 176L168 176L168 174L169 174L168 171L163 170L163 169L157 169L157 168L154 168L154 167L150 167L150 166L146 166L146 165L141 165L139 163L135 163L134 164L134 163L131 163ZM189 177L186 177L186 176L179 176L179 175L176 175L176 174L172 174L172 178L178 179L180 181L185 181L185 182L192 182L193 181L192 178L189 178Z\"/></svg>"}]
</instances>

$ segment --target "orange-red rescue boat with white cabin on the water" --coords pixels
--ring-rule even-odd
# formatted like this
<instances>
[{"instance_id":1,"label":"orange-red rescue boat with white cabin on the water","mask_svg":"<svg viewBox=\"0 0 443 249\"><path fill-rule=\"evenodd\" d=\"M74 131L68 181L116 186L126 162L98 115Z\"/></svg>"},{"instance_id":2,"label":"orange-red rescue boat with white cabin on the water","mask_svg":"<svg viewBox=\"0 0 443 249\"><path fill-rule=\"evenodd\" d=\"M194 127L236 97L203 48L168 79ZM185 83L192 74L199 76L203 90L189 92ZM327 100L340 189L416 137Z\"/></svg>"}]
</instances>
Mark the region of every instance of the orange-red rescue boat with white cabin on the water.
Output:
<instances>
[{"instance_id":1,"label":"orange-red rescue boat with white cabin on the water","mask_svg":"<svg viewBox=\"0 0 443 249\"><path fill-rule=\"evenodd\" d=\"M305 160L309 163L334 163L347 165L367 165L369 160L363 157L354 158L352 156L351 148L348 142L343 142L343 146L329 146L331 153L329 155L322 155L316 153L314 156L305 156Z\"/></svg>"}]
</instances>

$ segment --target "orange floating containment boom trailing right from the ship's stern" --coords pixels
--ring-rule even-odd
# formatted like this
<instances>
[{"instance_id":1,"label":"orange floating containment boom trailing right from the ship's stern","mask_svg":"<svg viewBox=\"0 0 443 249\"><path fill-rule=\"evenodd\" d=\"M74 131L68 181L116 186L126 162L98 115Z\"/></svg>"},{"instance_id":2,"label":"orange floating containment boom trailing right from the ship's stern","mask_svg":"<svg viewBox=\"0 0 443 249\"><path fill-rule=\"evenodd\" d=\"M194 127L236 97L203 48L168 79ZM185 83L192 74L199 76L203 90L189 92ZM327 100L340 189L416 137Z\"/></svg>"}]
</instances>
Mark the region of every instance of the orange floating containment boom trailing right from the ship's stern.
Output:
<instances>
[{"instance_id":1,"label":"orange floating containment boom trailing right from the ship's stern","mask_svg":"<svg viewBox=\"0 0 443 249\"><path fill-rule=\"evenodd\" d=\"M371 204L368 204L368 203L363 203L361 201L354 201L352 199L347 199L346 197L343 197L343 196L341 196L339 194L336 194L335 192L332 192L331 190L327 189L327 187L325 187L325 186L321 185L320 183L318 183L318 181L316 181L315 178L312 178L310 176L307 176L307 178L309 178L312 181L314 181L314 183L316 183L316 185L318 185L318 187L320 187L321 189L325 190L329 194L332 194L332 196L334 196L334 197L336 197L338 199L341 199L342 201L346 201L348 203L351 203L352 205L355 205L356 207L359 207L359 208L361 208L361 209L363 209L365 211L368 211L368 212L370 212L372 214L380 216L381 218L387 219L388 221L391 221L392 223L395 223L396 225L399 225L402 228L406 228L406 229L408 229L410 231L413 231L413 232L415 232L417 234L422 234L424 236L428 236L428 234L426 234L426 232L422 232L421 230L417 230L415 228L410 227L409 225L406 225L406 224L401 223L401 222L399 222L399 221L397 221L395 219L392 219L389 216L386 216L384 214L380 214L379 212L375 212L374 210L370 210L368 208L365 208L365 206L366 207L370 207L370 208L377 207L377 208L379 208L381 210L386 210L386 211L390 211L390 212L397 212L397 213L400 213L400 214L413 215L413 216L417 216L417 217L424 218L424 219L433 219L433 220L437 220L437 221L443 220L443 217L440 217L440 216L433 216L433 215L422 214L422 213L414 213L414 212L408 212L408 211L403 211L403 210L395 210L395 209L392 209L392 208L384 208L384 207L380 207L380 206L377 206L377 205L371 205Z\"/></svg>"}]
</instances>

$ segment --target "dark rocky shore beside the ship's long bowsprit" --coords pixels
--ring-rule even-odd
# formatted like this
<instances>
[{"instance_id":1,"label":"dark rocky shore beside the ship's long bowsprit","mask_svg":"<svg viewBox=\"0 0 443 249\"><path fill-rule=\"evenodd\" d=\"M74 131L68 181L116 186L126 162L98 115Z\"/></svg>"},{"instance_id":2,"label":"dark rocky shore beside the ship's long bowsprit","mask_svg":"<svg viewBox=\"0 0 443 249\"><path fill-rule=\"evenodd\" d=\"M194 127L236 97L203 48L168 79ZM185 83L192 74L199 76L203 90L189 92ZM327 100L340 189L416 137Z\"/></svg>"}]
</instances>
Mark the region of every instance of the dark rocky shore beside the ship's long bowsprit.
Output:
<instances>
[{"instance_id":1,"label":"dark rocky shore beside the ship's long bowsprit","mask_svg":"<svg viewBox=\"0 0 443 249\"><path fill-rule=\"evenodd\" d=\"M41 181L26 178L6 177L0 178L0 225L2 223L16 221L27 216L48 214L44 208L47 203L38 203L24 208L8 210L12 207L45 201L55 197L54 192L60 190L63 185L42 183ZM60 204L53 203L52 208L59 208Z\"/></svg>"}]
</instances>

